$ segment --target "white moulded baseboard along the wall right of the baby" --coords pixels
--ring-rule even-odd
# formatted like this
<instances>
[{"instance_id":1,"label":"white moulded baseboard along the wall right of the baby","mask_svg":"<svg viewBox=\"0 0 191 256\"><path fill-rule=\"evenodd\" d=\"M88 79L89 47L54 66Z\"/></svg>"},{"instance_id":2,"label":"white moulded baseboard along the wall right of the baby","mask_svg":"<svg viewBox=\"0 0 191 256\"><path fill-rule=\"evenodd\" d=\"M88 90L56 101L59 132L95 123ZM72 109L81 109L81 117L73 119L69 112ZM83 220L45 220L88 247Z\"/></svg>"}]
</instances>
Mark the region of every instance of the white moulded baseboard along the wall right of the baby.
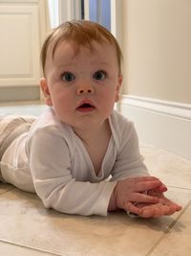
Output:
<instances>
[{"instance_id":1,"label":"white moulded baseboard along the wall right of the baby","mask_svg":"<svg viewBox=\"0 0 191 256\"><path fill-rule=\"evenodd\" d=\"M191 105L123 95L120 113L132 120L140 145L151 145L191 160Z\"/></svg>"}]
</instances>

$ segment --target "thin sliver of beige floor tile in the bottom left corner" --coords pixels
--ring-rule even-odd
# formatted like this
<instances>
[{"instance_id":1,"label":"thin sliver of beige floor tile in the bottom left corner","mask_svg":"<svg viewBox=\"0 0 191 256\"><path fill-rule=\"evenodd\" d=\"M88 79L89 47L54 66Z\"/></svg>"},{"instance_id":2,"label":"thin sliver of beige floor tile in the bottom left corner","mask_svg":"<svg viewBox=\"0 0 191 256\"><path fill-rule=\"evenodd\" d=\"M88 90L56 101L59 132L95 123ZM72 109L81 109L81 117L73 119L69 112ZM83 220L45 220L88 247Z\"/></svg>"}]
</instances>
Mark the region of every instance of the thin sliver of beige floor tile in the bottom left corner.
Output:
<instances>
[{"instance_id":1,"label":"thin sliver of beige floor tile in the bottom left corner","mask_svg":"<svg viewBox=\"0 0 191 256\"><path fill-rule=\"evenodd\" d=\"M33 250L17 244L9 244L0 241L0 255L2 256L56 256L43 251Z\"/></svg>"}]
</instances>

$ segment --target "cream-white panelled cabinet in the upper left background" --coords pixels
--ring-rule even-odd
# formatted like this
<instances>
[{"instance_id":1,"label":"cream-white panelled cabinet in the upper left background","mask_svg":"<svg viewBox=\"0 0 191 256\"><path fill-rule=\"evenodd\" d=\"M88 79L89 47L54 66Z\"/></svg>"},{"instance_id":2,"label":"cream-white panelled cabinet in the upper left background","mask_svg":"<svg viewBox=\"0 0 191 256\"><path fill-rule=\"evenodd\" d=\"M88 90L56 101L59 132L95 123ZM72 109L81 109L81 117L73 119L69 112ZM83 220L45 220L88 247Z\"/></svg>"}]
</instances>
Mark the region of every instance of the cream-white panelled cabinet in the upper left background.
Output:
<instances>
[{"instance_id":1,"label":"cream-white panelled cabinet in the upper left background","mask_svg":"<svg viewBox=\"0 0 191 256\"><path fill-rule=\"evenodd\" d=\"M0 101L14 100L17 90L21 94L39 91L40 48L48 23L46 4L46 0L0 0ZM6 91L12 93L10 99ZM15 100L25 96L20 98Z\"/></svg>"}]
</instances>

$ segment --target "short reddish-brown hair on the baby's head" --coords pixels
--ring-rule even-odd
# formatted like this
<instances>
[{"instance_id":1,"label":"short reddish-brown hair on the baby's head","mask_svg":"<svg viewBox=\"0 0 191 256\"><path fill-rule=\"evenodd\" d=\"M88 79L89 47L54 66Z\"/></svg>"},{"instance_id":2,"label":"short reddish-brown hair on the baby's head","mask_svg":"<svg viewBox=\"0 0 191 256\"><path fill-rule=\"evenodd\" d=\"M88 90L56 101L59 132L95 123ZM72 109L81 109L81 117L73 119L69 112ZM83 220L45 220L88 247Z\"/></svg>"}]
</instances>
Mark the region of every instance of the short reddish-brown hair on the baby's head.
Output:
<instances>
[{"instance_id":1,"label":"short reddish-brown hair on the baby's head","mask_svg":"<svg viewBox=\"0 0 191 256\"><path fill-rule=\"evenodd\" d=\"M53 29L52 33L46 38L41 50L41 63L45 77L47 55L51 51L53 58L56 47L63 41L73 45L75 54L78 53L81 46L93 50L94 42L113 45L117 53L118 72L119 74L121 73L122 54L115 36L95 22L88 20L74 20L65 22Z\"/></svg>"}]
</instances>

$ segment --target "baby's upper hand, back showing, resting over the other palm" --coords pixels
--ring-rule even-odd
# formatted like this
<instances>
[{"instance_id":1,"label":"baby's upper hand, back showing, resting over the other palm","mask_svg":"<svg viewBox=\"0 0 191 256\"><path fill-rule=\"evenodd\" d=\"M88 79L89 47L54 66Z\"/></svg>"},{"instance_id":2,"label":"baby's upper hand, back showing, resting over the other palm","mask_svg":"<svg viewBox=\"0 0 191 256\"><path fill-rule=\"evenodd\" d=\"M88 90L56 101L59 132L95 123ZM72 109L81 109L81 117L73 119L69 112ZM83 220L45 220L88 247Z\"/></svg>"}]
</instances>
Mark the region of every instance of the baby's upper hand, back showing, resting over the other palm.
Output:
<instances>
[{"instance_id":1,"label":"baby's upper hand, back showing, resting over the other palm","mask_svg":"<svg viewBox=\"0 0 191 256\"><path fill-rule=\"evenodd\" d=\"M114 197L117 208L124 209L127 212L143 214L142 208L138 208L135 202L143 203L159 203L159 197L145 195L143 192L148 190L160 191L162 189L161 181L154 176L142 176L126 178L124 180L117 181L116 188L114 190ZM156 192L158 193L158 192ZM145 209L147 210L147 209ZM144 213L145 214L145 213Z\"/></svg>"}]
</instances>

